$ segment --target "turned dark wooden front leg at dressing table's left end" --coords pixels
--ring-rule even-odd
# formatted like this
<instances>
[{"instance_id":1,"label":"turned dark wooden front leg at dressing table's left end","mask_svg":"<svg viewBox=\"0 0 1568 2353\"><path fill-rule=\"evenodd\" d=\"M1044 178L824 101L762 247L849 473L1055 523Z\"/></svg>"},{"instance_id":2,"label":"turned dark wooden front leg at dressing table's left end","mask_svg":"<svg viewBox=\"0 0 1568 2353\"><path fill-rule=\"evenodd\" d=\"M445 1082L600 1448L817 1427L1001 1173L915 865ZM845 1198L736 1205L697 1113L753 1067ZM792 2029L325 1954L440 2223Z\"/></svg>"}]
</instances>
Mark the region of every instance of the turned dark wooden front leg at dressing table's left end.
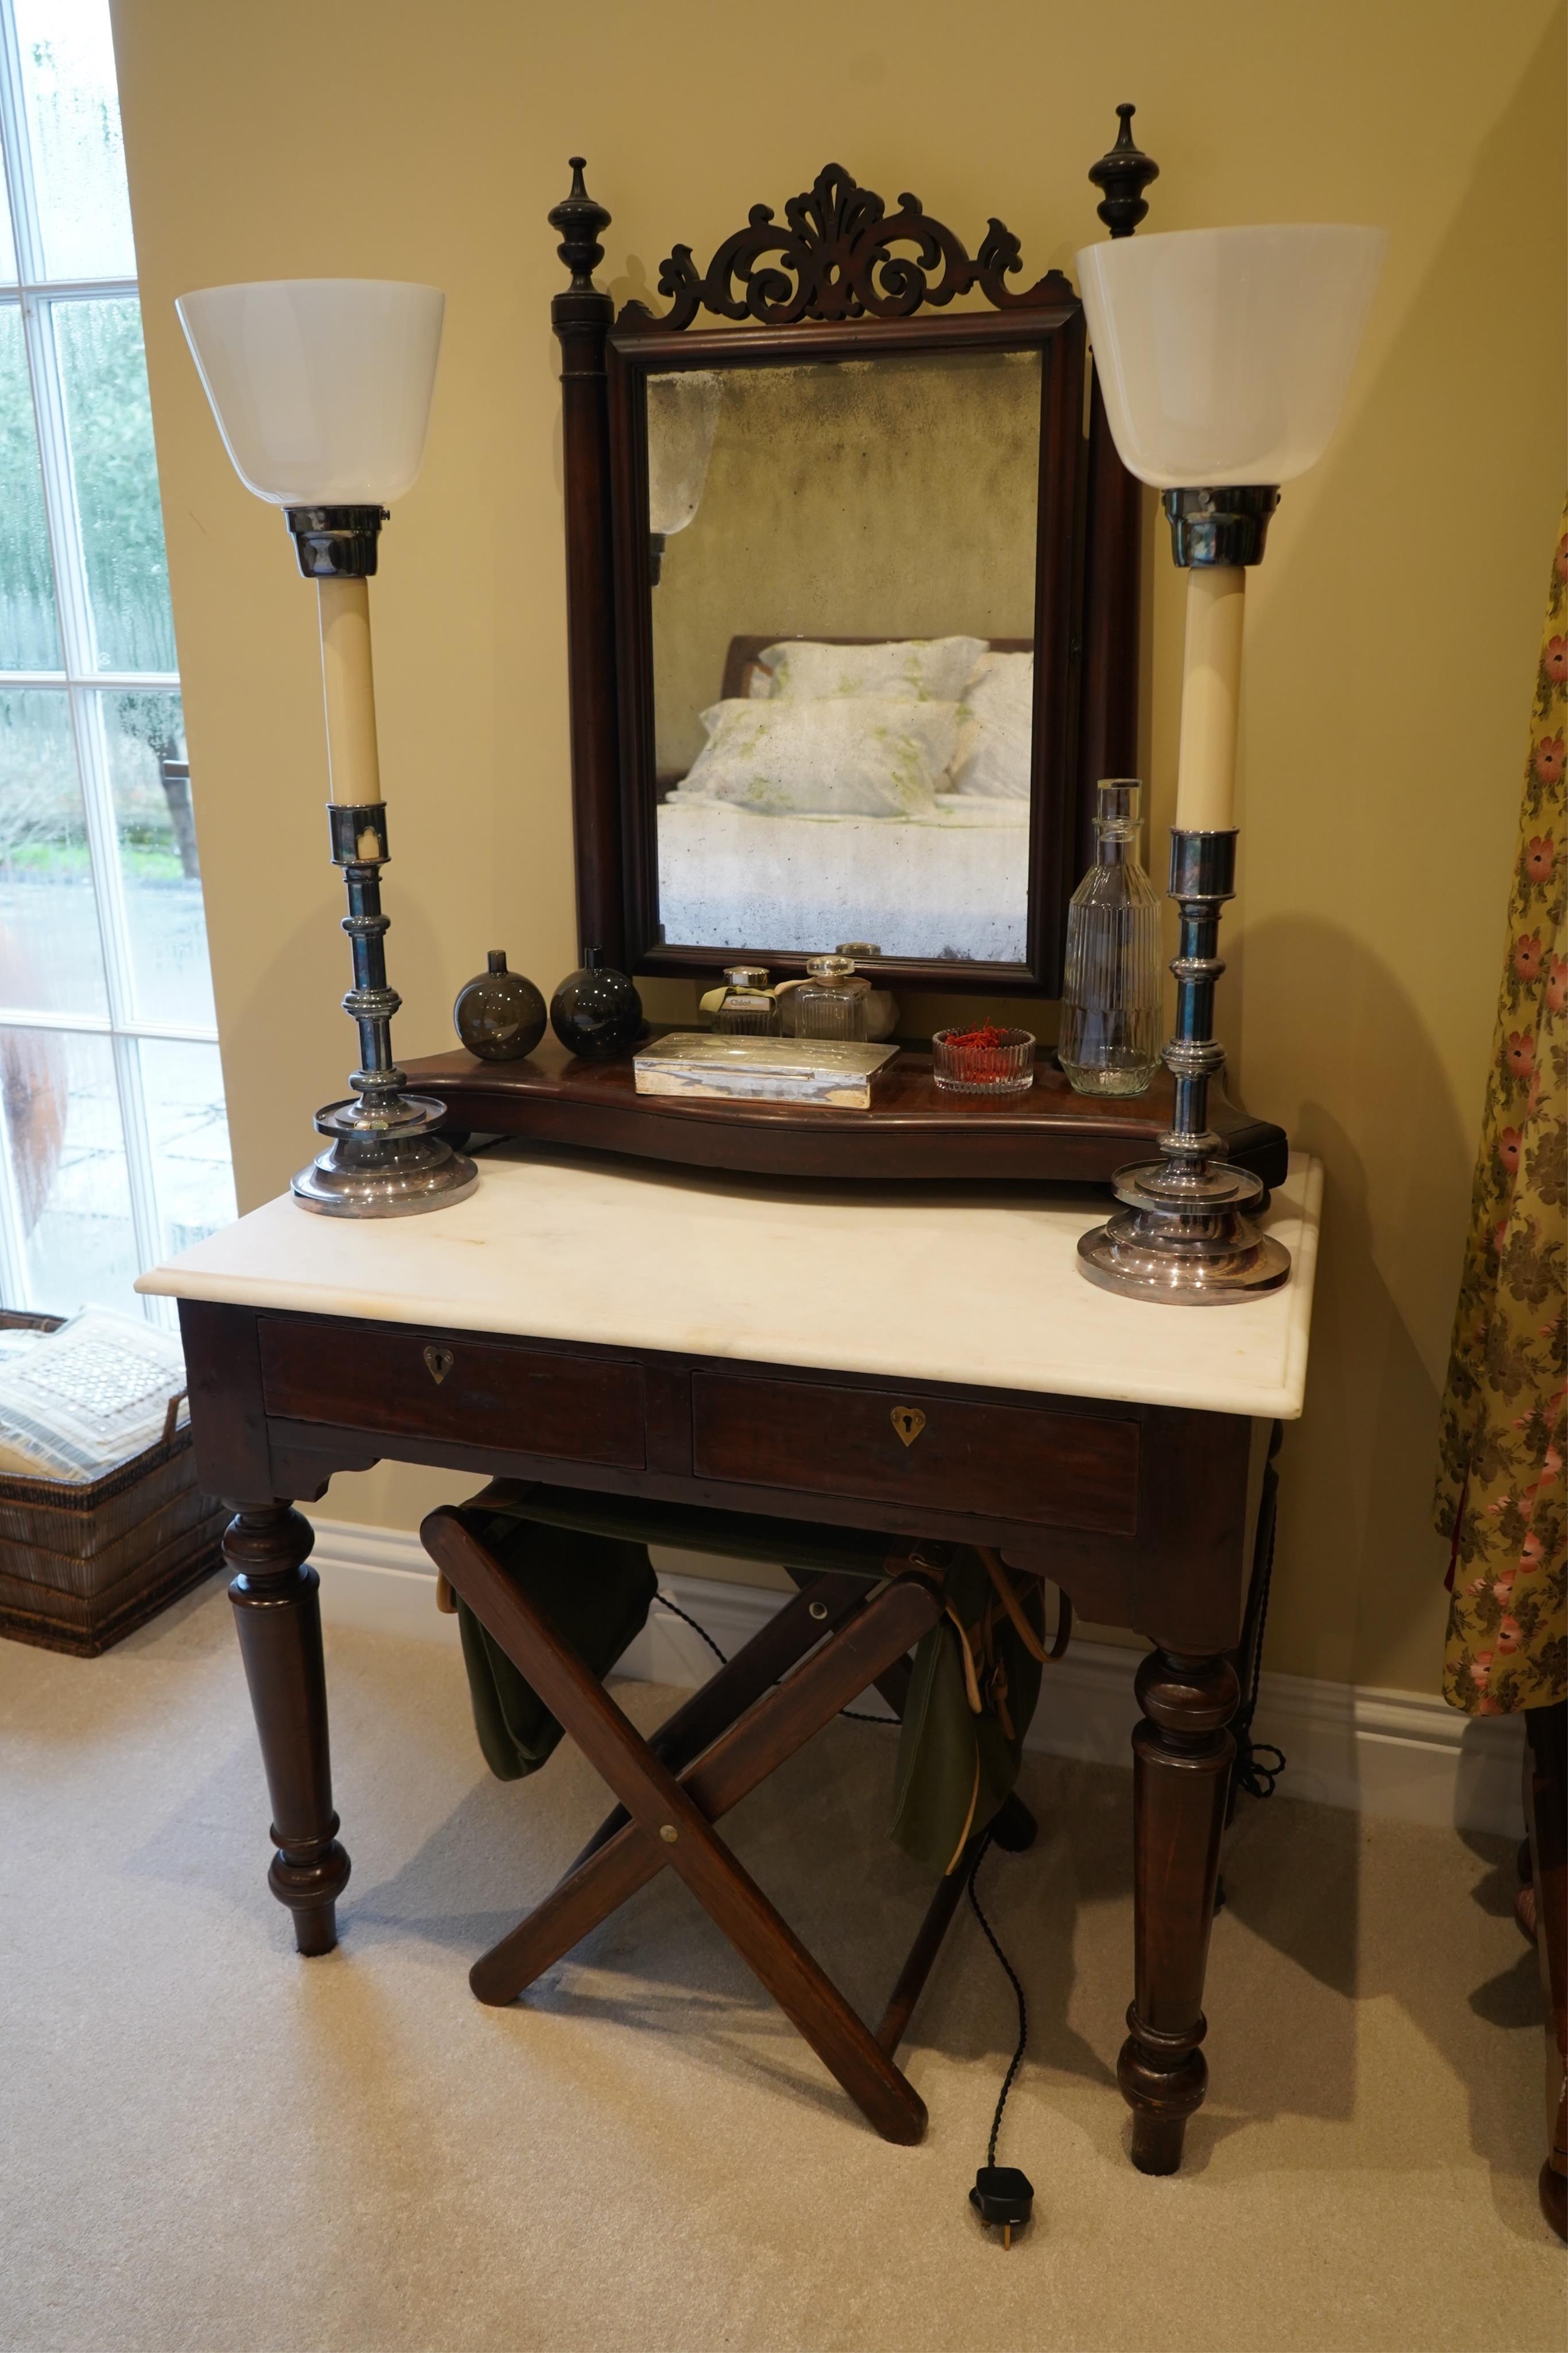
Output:
<instances>
[{"instance_id":1,"label":"turned dark wooden front leg at dressing table's left end","mask_svg":"<svg viewBox=\"0 0 1568 2353\"><path fill-rule=\"evenodd\" d=\"M310 1522L284 1501L240 1511L223 1532L223 1560L235 1569L228 1598L273 1800L277 1852L268 1887L294 1913L299 1951L329 1953L339 1941L348 1854L331 1812L322 1581L306 1567L313 1544Z\"/></svg>"}]
</instances>

